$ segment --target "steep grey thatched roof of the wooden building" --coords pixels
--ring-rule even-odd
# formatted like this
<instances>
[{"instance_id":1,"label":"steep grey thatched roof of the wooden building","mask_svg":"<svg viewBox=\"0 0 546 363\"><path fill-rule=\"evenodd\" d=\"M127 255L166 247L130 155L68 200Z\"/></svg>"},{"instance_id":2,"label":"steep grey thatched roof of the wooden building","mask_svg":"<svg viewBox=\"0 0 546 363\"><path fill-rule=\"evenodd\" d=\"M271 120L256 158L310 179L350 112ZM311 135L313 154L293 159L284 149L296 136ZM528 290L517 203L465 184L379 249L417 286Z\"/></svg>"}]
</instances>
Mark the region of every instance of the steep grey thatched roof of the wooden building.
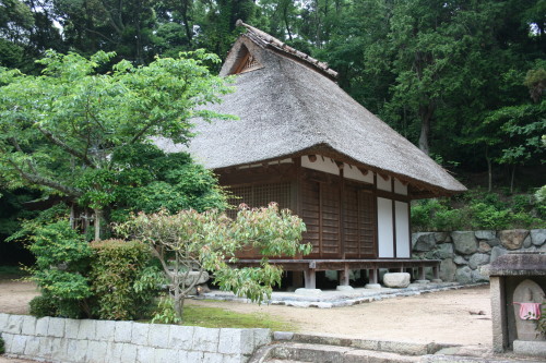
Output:
<instances>
[{"instance_id":1,"label":"steep grey thatched roof of the wooden building","mask_svg":"<svg viewBox=\"0 0 546 363\"><path fill-rule=\"evenodd\" d=\"M335 82L336 73L251 26L233 46L221 75L253 56L252 71L236 75L236 92L209 109L238 121L197 124L190 152L207 168L260 164L320 154L408 182L425 194L465 187ZM173 145L164 148L175 149ZM415 186L418 189L415 189ZM425 195L424 194L424 195Z\"/></svg>"}]
</instances>

